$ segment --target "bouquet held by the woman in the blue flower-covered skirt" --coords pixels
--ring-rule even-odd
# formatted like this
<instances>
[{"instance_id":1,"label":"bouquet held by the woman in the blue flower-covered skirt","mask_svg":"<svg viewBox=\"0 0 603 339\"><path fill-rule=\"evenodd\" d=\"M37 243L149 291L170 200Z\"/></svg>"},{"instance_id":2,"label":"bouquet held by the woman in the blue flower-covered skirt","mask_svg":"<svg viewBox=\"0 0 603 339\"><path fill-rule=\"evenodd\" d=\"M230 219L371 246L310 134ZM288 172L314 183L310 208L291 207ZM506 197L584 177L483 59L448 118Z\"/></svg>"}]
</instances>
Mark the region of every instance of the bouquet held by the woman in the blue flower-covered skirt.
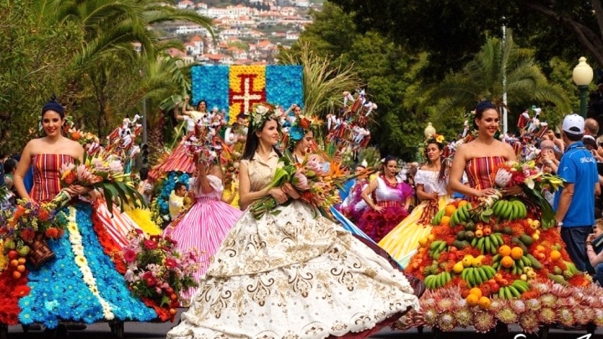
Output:
<instances>
[{"instance_id":1,"label":"bouquet held by the woman in the blue flower-covered skirt","mask_svg":"<svg viewBox=\"0 0 603 339\"><path fill-rule=\"evenodd\" d=\"M84 155L84 162L63 164L60 173L63 187L76 184L102 188L109 212L113 211L113 203L120 205L122 212L123 203L132 203L135 207L144 204L132 177L124 172L123 162L117 155ZM52 202L56 207L63 207L70 198L70 194L63 189Z\"/></svg>"}]
</instances>

